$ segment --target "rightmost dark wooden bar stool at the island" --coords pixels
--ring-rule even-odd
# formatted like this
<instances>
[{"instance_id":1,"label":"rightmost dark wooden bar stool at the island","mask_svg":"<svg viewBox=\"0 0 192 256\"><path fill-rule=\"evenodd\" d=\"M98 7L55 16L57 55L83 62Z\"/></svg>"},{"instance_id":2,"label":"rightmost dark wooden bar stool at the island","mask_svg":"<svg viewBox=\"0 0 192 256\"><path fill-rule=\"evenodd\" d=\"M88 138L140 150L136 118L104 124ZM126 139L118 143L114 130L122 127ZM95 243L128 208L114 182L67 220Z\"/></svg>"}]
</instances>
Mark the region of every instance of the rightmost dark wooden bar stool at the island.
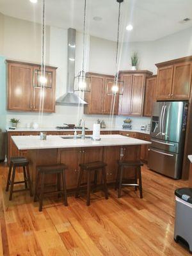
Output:
<instances>
[{"instance_id":1,"label":"rightmost dark wooden bar stool at the island","mask_svg":"<svg viewBox=\"0 0 192 256\"><path fill-rule=\"evenodd\" d=\"M117 161L118 163L118 173L116 177L116 186L115 189L118 188L118 198L121 197L122 186L134 186L135 190L139 187L140 189L140 198L143 198L142 192L142 181L141 181L141 166L143 163L141 161ZM124 175L124 168L131 168L134 167L134 183L122 183L123 182L123 175ZM139 178L139 184L138 184ZM125 181L126 182L126 181Z\"/></svg>"}]
</instances>

